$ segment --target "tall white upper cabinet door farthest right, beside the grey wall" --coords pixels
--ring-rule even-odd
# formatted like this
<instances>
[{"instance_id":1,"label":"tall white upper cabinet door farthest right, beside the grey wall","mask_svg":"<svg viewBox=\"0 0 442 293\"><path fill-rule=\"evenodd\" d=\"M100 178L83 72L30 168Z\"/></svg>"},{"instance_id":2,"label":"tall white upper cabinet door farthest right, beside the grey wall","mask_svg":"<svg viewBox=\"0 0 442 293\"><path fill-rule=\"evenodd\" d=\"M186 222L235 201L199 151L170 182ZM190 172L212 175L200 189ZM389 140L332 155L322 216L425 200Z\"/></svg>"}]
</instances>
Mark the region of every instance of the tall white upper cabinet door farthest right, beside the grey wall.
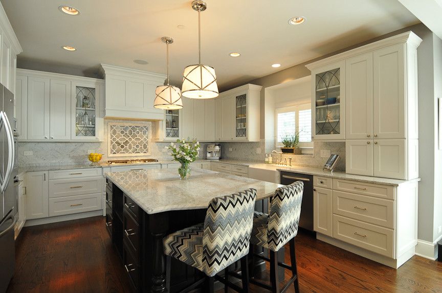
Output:
<instances>
[{"instance_id":1,"label":"tall white upper cabinet door farthest right, beside the grey wall","mask_svg":"<svg viewBox=\"0 0 442 293\"><path fill-rule=\"evenodd\" d=\"M373 134L405 138L404 44L373 53Z\"/></svg>"}]
</instances>

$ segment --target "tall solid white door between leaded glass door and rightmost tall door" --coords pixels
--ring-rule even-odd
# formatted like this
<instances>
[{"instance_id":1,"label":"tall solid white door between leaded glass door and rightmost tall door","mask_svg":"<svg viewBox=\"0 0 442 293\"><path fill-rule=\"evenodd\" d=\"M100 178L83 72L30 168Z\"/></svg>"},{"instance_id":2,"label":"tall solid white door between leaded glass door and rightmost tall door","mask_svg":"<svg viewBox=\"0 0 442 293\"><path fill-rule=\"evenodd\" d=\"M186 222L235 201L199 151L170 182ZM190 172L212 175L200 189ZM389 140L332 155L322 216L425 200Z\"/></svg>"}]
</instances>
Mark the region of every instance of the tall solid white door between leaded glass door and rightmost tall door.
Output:
<instances>
[{"instance_id":1,"label":"tall solid white door between leaded glass door and rightmost tall door","mask_svg":"<svg viewBox=\"0 0 442 293\"><path fill-rule=\"evenodd\" d=\"M346 139L367 139L373 135L373 54L345 61Z\"/></svg>"}]
</instances>

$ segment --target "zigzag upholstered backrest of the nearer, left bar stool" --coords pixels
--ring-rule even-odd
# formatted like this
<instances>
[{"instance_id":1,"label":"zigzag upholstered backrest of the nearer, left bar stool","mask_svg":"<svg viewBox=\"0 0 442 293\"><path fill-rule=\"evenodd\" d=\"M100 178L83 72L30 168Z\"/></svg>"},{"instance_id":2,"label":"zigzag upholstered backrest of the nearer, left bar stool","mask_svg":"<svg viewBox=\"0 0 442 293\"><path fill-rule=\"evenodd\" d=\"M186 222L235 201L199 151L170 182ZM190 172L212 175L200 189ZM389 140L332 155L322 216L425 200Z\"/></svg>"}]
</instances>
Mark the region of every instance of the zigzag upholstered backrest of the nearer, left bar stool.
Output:
<instances>
[{"instance_id":1,"label":"zigzag upholstered backrest of the nearer, left bar stool","mask_svg":"<svg viewBox=\"0 0 442 293\"><path fill-rule=\"evenodd\" d=\"M249 253L256 189L212 199L203 233L203 272L208 276Z\"/></svg>"}]
</instances>

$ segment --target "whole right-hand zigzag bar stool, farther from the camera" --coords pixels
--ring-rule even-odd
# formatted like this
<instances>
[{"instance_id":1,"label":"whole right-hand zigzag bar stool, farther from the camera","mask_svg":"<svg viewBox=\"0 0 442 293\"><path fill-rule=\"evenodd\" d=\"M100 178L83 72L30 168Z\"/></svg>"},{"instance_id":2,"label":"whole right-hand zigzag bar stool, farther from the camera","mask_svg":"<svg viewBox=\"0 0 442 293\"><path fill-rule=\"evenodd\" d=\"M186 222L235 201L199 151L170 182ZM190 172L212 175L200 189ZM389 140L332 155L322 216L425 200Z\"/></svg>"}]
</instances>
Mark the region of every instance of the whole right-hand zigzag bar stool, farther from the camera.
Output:
<instances>
[{"instance_id":1,"label":"whole right-hand zigzag bar stool, farther from the camera","mask_svg":"<svg viewBox=\"0 0 442 293\"><path fill-rule=\"evenodd\" d=\"M251 278L250 283L271 290L273 293L285 292L292 283L294 283L295 292L299 293L295 236L298 233L303 189L304 184L301 181L279 187L270 199L269 214L255 212L253 216L251 246L257 245L267 248L270 259L255 253L252 255L270 261L271 286L255 278ZM278 251L287 242L290 242L291 265L278 262ZM254 263L253 260L252 262ZM292 278L282 287L281 291L279 290L278 265L292 271Z\"/></svg>"}]
</instances>

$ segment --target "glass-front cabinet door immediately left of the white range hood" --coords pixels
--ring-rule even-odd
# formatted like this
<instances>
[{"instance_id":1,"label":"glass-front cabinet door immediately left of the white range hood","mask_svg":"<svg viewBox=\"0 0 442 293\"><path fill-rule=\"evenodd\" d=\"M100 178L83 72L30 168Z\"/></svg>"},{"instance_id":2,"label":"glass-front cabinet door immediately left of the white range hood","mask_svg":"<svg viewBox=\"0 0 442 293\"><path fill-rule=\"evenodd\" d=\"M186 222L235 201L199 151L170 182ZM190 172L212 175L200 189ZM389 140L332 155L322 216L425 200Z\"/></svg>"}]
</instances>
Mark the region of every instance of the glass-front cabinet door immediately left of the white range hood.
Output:
<instances>
[{"instance_id":1,"label":"glass-front cabinet door immediately left of the white range hood","mask_svg":"<svg viewBox=\"0 0 442 293\"><path fill-rule=\"evenodd\" d=\"M72 82L73 140L100 140L102 118L100 111L101 85Z\"/></svg>"}]
</instances>

